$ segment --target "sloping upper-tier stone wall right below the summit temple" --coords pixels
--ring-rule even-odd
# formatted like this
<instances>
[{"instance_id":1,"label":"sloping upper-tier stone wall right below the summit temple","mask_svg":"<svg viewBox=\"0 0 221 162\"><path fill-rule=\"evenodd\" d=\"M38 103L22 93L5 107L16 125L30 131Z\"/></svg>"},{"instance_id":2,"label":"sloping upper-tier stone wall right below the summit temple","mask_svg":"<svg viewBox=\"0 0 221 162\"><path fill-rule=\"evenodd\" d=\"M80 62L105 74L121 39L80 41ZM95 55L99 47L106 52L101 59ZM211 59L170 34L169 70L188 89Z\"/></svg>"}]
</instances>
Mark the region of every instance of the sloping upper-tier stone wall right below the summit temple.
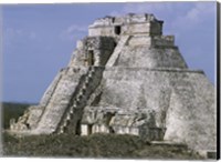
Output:
<instances>
[{"instance_id":1,"label":"sloping upper-tier stone wall right below the summit temple","mask_svg":"<svg viewBox=\"0 0 221 162\"><path fill-rule=\"evenodd\" d=\"M126 37L122 37L123 40ZM129 38L129 39L128 39ZM119 43L120 43L119 40ZM172 36L147 37L130 36L122 44L115 61L112 65L134 68L180 68L187 69L187 64L173 44ZM119 45L117 45L118 48ZM107 67L115 52L110 57Z\"/></svg>"}]
</instances>

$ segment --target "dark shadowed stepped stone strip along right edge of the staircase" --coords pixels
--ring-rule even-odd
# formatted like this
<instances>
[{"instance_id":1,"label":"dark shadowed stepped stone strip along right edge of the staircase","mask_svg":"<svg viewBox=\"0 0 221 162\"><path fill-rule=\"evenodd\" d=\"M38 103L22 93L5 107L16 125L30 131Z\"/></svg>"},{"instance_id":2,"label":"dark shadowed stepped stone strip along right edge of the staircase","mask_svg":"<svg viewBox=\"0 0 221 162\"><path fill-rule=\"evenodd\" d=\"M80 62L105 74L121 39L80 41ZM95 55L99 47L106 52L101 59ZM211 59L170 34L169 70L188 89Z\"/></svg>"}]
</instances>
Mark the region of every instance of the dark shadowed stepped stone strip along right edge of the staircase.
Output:
<instances>
[{"instance_id":1,"label":"dark shadowed stepped stone strip along right edge of the staircase","mask_svg":"<svg viewBox=\"0 0 221 162\"><path fill-rule=\"evenodd\" d=\"M83 109L86 105L86 101L94 90L99 85L102 80L104 68L101 67L90 67L88 72L85 74L82 82L78 84L78 90L72 97L72 101L67 107L57 129L57 133L67 132L67 128L71 125L72 120L80 120L83 113ZM73 122L76 123L76 122ZM76 125L72 128L75 132Z\"/></svg>"}]
</instances>

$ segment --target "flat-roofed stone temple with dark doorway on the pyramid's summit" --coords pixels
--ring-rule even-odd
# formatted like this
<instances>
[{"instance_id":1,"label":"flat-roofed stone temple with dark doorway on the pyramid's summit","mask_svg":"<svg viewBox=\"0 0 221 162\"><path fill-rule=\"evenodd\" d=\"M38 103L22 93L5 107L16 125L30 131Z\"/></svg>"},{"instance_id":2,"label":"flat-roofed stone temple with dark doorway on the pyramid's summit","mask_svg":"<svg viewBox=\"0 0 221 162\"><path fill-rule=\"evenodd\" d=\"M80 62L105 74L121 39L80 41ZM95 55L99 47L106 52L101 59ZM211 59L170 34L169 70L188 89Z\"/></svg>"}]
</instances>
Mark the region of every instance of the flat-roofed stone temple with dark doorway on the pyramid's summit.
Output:
<instances>
[{"instance_id":1,"label":"flat-roofed stone temple with dark doorway on the pyramid's summit","mask_svg":"<svg viewBox=\"0 0 221 162\"><path fill-rule=\"evenodd\" d=\"M118 29L117 29L118 28ZM116 32L116 30L119 30ZM161 36L162 21L152 14L127 14L125 17L106 17L96 20L88 29L88 36L118 37L122 34Z\"/></svg>"}]
</instances>

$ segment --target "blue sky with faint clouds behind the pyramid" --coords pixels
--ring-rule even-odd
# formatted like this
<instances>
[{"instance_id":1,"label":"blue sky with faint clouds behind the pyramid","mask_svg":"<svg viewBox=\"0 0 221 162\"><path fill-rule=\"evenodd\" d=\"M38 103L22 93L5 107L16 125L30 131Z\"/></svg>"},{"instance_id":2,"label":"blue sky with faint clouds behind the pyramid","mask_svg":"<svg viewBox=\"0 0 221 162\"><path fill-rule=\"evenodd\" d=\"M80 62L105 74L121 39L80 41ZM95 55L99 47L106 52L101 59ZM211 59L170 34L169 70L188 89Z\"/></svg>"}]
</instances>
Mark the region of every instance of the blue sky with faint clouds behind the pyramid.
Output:
<instances>
[{"instance_id":1,"label":"blue sky with faint clouds behind the pyramid","mask_svg":"<svg viewBox=\"0 0 221 162\"><path fill-rule=\"evenodd\" d=\"M105 16L154 13L190 69L214 83L215 2L146 2L3 6L3 101L39 102L66 67L76 40Z\"/></svg>"}]
</instances>

